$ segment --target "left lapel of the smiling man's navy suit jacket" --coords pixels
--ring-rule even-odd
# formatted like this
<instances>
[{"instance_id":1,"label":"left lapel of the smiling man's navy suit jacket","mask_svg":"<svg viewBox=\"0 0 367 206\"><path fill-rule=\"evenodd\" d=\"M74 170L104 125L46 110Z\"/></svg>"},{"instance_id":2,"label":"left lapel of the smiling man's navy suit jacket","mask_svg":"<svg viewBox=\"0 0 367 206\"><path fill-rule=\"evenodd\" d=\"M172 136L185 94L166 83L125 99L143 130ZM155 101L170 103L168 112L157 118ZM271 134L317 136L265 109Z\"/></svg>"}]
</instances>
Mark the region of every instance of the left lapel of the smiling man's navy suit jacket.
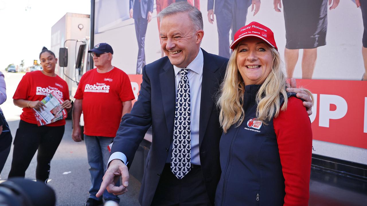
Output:
<instances>
[{"instance_id":1,"label":"left lapel of the smiling man's navy suit jacket","mask_svg":"<svg viewBox=\"0 0 367 206\"><path fill-rule=\"evenodd\" d=\"M173 66L167 58L167 63L163 67L163 72L159 74L162 103L164 115L166 116L167 130L170 135L173 136L173 124L175 121L175 73Z\"/></svg>"}]
</instances>

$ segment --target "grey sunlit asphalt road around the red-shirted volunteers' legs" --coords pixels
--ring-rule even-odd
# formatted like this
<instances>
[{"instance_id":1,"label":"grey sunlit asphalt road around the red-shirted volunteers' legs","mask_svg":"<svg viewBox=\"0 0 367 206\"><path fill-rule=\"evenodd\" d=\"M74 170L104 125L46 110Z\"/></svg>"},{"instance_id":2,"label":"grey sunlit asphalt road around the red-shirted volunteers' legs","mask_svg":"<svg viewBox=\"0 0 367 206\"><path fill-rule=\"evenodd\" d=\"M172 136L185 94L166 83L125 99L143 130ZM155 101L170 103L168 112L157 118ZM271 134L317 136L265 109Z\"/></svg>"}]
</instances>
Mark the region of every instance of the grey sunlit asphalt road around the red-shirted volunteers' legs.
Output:
<instances>
[{"instance_id":1,"label":"grey sunlit asphalt road around the red-shirted volunteers' legs","mask_svg":"<svg viewBox=\"0 0 367 206\"><path fill-rule=\"evenodd\" d=\"M15 132L19 124L19 115L22 110L14 106L12 103L12 96L24 73L2 72L4 73L7 84L8 98L7 101L1 105L1 109L4 111L14 140ZM58 206L81 206L89 196L88 190L91 182L88 171L89 165L86 146L84 141L79 143L74 142L71 138L71 132L72 122L71 120L67 120L63 139L51 161L51 174L48 185L50 185L56 193ZM7 180L12 161L12 149L13 148L11 148L4 169L0 174L0 182ZM36 155L34 155L26 171L26 178L35 179L36 165L37 160ZM139 205L139 188L139 181L130 176L129 191L124 195L120 195L120 206Z\"/></svg>"}]
</instances>

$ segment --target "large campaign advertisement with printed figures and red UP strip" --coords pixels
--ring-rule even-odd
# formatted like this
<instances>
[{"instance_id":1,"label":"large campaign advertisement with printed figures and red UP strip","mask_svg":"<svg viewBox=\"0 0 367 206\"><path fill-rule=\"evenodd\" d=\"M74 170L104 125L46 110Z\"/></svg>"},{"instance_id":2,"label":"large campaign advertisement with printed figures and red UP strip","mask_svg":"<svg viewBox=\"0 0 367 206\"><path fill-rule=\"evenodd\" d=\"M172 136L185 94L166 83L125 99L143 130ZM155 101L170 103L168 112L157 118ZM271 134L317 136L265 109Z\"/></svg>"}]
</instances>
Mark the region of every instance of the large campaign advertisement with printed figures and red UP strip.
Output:
<instances>
[{"instance_id":1,"label":"large campaign advertisement with printed figures and red UP strip","mask_svg":"<svg viewBox=\"0 0 367 206\"><path fill-rule=\"evenodd\" d=\"M112 65L129 74L136 99L143 66L164 56L157 12L173 2L95 1L94 45L112 46ZM188 2L203 14L201 48L212 54L228 58L233 33L252 21L272 29L287 77L296 78L315 99L313 154L367 165L367 81L362 81L367 80L367 5L357 8L354 0Z\"/></svg>"}]
</instances>

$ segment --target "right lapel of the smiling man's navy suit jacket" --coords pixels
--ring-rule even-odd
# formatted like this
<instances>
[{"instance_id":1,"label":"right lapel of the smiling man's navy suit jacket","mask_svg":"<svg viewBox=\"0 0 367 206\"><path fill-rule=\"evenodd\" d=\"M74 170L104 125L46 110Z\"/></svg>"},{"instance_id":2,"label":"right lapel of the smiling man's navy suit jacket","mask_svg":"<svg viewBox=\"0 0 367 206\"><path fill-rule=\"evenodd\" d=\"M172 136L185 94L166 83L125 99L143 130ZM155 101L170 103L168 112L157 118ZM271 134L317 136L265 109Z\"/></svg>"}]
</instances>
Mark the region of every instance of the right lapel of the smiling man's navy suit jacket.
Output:
<instances>
[{"instance_id":1,"label":"right lapel of the smiling man's navy suit jacket","mask_svg":"<svg viewBox=\"0 0 367 206\"><path fill-rule=\"evenodd\" d=\"M206 128L208 126L209 117L215 100L215 84L218 83L220 74L215 73L218 65L214 60L203 50L204 66L203 80L201 83L201 100L200 100L200 120L199 120L199 147L203 141Z\"/></svg>"}]
</instances>

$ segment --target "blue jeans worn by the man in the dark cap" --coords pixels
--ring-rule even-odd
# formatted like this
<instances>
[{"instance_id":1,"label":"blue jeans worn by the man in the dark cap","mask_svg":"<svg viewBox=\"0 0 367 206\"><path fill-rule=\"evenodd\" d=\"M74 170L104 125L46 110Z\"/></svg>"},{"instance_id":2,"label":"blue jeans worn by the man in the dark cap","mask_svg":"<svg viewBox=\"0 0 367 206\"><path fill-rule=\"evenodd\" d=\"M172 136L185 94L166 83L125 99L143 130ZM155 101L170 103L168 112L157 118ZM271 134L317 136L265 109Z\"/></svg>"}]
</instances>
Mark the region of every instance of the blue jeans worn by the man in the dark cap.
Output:
<instances>
[{"instance_id":1,"label":"blue jeans worn by the man in the dark cap","mask_svg":"<svg viewBox=\"0 0 367 206\"><path fill-rule=\"evenodd\" d=\"M89 190L89 197L96 200L102 199L97 198L95 195L101 187L103 174L106 173L107 163L110 157L110 152L108 151L107 146L111 143L111 140L111 137L84 135L84 141L87 147L88 163L90 166L89 172L91 173L92 182L92 186ZM120 183L117 183L116 186L120 186ZM115 202L120 202L119 197L109 193L107 190L103 192L103 199L106 201L113 200Z\"/></svg>"}]
</instances>

